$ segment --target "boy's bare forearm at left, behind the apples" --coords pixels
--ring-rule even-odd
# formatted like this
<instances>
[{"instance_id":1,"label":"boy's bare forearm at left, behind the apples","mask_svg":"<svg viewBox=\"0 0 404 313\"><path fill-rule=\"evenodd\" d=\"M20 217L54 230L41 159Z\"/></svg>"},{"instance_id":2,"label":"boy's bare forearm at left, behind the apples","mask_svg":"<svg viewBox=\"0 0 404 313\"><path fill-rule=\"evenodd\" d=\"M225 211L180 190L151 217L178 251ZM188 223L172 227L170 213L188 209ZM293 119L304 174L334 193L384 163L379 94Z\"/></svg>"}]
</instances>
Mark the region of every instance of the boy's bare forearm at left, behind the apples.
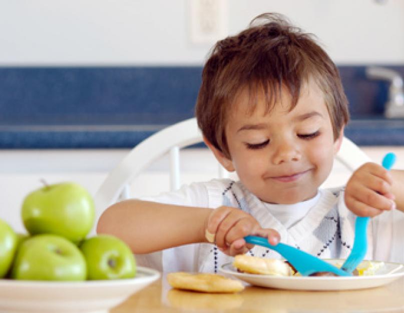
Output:
<instances>
[{"instance_id":1,"label":"boy's bare forearm at left, behind the apples","mask_svg":"<svg viewBox=\"0 0 404 313\"><path fill-rule=\"evenodd\" d=\"M134 253L149 253L182 244L207 242L209 208L125 200L101 215L97 233L124 240Z\"/></svg>"}]
</instances>

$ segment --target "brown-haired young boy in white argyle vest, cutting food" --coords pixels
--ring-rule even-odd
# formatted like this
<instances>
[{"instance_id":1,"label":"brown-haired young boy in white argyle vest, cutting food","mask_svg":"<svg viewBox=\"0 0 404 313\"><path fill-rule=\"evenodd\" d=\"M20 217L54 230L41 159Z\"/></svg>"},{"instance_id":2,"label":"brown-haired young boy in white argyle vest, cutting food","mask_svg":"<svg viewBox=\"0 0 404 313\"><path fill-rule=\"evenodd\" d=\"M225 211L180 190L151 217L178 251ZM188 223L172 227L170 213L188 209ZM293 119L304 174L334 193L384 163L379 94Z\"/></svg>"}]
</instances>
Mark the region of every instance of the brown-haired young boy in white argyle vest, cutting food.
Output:
<instances>
[{"instance_id":1,"label":"brown-haired young boy in white argyle vest, cutting food","mask_svg":"<svg viewBox=\"0 0 404 313\"><path fill-rule=\"evenodd\" d=\"M265 14L219 41L203 70L196 117L207 146L239 181L193 183L109 207L97 231L125 240L139 263L217 272L240 253L279 257L247 245L250 234L345 258L355 214L374 217L367 258L404 261L404 250L390 248L401 238L391 234L399 222L393 209L404 209L402 172L367 163L345 188L318 189L349 114L338 71L309 34Z\"/></svg>"}]
</instances>

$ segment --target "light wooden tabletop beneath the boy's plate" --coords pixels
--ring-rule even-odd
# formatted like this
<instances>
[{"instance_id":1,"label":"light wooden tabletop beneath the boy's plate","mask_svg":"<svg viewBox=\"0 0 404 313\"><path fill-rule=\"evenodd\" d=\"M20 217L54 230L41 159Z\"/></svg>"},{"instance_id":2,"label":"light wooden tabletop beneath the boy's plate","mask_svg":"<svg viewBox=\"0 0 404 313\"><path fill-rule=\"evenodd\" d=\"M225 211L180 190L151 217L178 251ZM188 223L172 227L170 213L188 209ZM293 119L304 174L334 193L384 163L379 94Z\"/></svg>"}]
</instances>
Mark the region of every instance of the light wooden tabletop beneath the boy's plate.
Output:
<instances>
[{"instance_id":1,"label":"light wooden tabletop beneath the boy's plate","mask_svg":"<svg viewBox=\"0 0 404 313\"><path fill-rule=\"evenodd\" d=\"M388 285L348 291L291 291L247 286L234 294L172 289L159 279L111 313L137 312L404 312L404 278Z\"/></svg>"}]
</instances>

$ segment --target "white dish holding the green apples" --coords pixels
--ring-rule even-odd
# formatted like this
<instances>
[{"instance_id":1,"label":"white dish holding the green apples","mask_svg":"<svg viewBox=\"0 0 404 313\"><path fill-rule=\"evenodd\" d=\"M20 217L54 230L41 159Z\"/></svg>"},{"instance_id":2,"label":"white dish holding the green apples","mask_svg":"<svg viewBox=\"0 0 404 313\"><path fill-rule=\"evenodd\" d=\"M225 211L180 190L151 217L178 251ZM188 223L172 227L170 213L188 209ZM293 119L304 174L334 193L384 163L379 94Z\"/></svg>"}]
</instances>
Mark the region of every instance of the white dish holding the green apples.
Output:
<instances>
[{"instance_id":1,"label":"white dish holding the green apples","mask_svg":"<svg viewBox=\"0 0 404 313\"><path fill-rule=\"evenodd\" d=\"M0 312L107 312L157 280L160 273L137 267L135 278L87 281L0 279Z\"/></svg>"}]
</instances>

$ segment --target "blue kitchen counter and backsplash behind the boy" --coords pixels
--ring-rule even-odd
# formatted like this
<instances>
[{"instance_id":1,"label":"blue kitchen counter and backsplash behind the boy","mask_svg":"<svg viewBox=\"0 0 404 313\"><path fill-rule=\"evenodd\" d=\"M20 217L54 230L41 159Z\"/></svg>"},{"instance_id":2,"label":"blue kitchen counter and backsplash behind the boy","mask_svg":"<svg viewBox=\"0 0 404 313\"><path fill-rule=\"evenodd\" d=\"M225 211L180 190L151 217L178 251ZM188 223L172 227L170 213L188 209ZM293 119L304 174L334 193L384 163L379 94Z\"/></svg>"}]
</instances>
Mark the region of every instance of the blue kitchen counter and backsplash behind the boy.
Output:
<instances>
[{"instance_id":1,"label":"blue kitchen counter and backsplash behind the boy","mask_svg":"<svg viewBox=\"0 0 404 313\"><path fill-rule=\"evenodd\" d=\"M387 67L387 66L386 66ZM388 83L339 66L359 146L404 146L382 118ZM404 76L404 66L390 66ZM0 67L0 149L132 148L194 116L202 67Z\"/></svg>"}]
</instances>

